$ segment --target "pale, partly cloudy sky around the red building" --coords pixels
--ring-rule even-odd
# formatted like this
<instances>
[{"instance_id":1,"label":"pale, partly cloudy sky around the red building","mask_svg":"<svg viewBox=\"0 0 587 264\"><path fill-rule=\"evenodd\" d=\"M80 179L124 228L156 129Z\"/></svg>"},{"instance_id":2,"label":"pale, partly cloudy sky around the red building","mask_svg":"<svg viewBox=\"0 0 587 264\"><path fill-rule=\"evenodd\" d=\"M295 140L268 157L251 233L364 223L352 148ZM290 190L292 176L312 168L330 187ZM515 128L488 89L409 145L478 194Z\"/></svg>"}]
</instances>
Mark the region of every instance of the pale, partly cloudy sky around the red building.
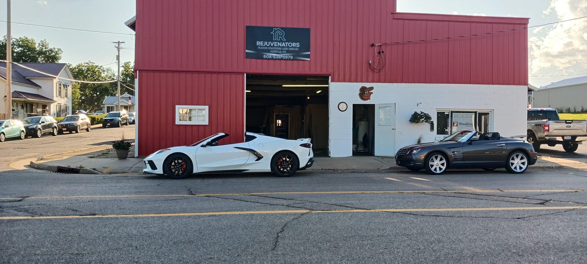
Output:
<instances>
[{"instance_id":1,"label":"pale, partly cloudy sky around the red building","mask_svg":"<svg viewBox=\"0 0 587 264\"><path fill-rule=\"evenodd\" d=\"M12 21L132 34L124 22L135 15L135 6L136 0L12 0ZM530 18L529 26L534 26L587 16L587 0L398 0L397 11L517 16ZM6 0L0 0L0 20L6 20ZM0 35L6 35L4 22ZM113 69L112 42L124 41L123 46L134 48L131 35L13 24L12 36L46 39L63 50L60 62L92 61ZM534 86L587 75L587 18L529 29L528 45L529 83ZM133 61L134 50L123 49L120 57L122 62Z\"/></svg>"}]
</instances>

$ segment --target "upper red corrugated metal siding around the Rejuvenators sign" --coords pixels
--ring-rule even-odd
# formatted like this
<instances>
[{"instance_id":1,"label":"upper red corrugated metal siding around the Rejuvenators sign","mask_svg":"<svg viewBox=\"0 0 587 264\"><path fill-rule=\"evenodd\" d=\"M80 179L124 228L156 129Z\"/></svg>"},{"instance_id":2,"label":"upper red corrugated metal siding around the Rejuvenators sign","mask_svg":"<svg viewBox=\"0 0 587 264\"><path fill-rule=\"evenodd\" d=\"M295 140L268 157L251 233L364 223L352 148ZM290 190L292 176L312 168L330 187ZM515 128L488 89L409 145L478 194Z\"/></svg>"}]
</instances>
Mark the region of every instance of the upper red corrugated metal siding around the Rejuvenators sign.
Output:
<instances>
[{"instance_id":1,"label":"upper red corrugated metal siding around the Rejuvenators sign","mask_svg":"<svg viewBox=\"0 0 587 264\"><path fill-rule=\"evenodd\" d=\"M527 29L384 46L387 66L371 72L371 43L487 33L527 23L392 14L394 6L390 0L140 0L136 69L323 74L332 75L333 82L527 85ZM311 28L311 60L245 59L247 25Z\"/></svg>"}]
</instances>

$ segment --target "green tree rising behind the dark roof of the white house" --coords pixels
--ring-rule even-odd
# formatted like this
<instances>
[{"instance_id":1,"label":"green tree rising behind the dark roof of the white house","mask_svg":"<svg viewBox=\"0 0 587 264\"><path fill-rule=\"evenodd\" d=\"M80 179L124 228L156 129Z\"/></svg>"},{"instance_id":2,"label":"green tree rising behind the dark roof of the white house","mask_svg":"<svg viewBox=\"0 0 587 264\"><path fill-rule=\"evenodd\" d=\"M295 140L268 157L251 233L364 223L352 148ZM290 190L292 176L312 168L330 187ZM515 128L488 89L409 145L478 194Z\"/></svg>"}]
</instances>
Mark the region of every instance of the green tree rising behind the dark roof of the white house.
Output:
<instances>
[{"instance_id":1,"label":"green tree rising behind the dark roof of the white house","mask_svg":"<svg viewBox=\"0 0 587 264\"><path fill-rule=\"evenodd\" d=\"M12 38L13 62L59 62L62 53L59 48L50 48L46 39L37 43L27 36ZM0 59L6 60L6 36L0 40Z\"/></svg>"}]
</instances>

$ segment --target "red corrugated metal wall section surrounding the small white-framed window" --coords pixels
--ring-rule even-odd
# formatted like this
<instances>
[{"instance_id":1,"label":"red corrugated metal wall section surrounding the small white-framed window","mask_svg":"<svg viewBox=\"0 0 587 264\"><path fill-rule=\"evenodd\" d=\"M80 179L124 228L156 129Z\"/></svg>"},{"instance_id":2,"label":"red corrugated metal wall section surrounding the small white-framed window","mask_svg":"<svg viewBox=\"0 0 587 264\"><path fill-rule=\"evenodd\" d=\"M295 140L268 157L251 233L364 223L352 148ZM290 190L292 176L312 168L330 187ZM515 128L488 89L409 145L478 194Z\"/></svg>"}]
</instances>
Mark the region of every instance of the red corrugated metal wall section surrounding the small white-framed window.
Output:
<instances>
[{"instance_id":1,"label":"red corrugated metal wall section surrounding the small white-framed window","mask_svg":"<svg viewBox=\"0 0 587 264\"><path fill-rule=\"evenodd\" d=\"M215 133L223 144L244 140L244 75L140 72L139 155L189 145ZM208 125L176 125L176 105L209 106Z\"/></svg>"}]
</instances>

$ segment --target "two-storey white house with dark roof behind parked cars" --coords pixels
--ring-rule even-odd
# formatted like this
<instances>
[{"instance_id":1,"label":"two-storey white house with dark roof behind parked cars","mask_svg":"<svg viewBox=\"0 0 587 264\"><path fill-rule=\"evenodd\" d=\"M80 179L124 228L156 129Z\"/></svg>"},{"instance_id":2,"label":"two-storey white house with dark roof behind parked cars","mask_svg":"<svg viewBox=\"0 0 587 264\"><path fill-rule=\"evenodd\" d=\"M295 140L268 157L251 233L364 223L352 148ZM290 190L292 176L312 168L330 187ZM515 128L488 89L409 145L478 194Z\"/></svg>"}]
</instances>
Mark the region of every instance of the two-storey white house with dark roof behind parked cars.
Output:
<instances>
[{"instance_id":1,"label":"two-storey white house with dark roof behind parked cars","mask_svg":"<svg viewBox=\"0 0 587 264\"><path fill-rule=\"evenodd\" d=\"M19 64L48 75L12 64L12 114L16 118L43 114L63 117L71 114L71 86L75 82L53 77L73 79L66 63ZM6 63L0 63L0 91L6 94ZM6 96L0 101L0 111L4 112L5 106Z\"/></svg>"}]
</instances>

